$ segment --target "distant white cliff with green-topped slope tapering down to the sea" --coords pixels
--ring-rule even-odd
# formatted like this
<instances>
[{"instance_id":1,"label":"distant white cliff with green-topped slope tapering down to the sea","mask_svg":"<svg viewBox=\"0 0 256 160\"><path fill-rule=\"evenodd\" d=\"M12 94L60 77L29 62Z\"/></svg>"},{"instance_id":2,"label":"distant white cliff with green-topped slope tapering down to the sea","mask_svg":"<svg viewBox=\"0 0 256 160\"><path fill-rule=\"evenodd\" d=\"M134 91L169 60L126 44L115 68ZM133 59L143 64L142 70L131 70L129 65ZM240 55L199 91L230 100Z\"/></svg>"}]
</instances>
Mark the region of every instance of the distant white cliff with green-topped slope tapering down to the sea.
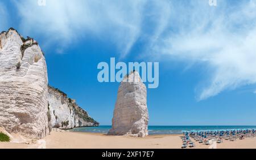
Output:
<instances>
[{"instance_id":1,"label":"distant white cliff with green-topped slope tapering down to the sea","mask_svg":"<svg viewBox=\"0 0 256 160\"><path fill-rule=\"evenodd\" d=\"M75 100L68 98L67 94L59 89L48 87L47 97L52 128L70 129L99 125L76 104Z\"/></svg>"}]
</instances>

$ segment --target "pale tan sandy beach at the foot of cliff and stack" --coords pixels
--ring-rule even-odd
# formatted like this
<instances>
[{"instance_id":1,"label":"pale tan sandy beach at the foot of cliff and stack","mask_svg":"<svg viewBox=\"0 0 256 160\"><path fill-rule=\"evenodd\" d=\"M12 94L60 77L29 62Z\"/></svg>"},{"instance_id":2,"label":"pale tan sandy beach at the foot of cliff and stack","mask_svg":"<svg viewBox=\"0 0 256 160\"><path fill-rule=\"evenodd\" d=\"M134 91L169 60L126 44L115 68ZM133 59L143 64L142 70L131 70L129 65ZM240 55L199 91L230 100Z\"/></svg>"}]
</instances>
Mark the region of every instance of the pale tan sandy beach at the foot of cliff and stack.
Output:
<instances>
[{"instance_id":1,"label":"pale tan sandy beach at the foot of cliff and stack","mask_svg":"<svg viewBox=\"0 0 256 160\"><path fill-rule=\"evenodd\" d=\"M180 149L181 135L153 135L145 138L106 136L98 133L52 132L42 144L14 144L0 142L0 148L47 148L47 149ZM195 142L196 149L208 149L209 145ZM40 145L40 147L39 147ZM256 149L256 138L226 141L217 144L217 149Z\"/></svg>"}]
</instances>

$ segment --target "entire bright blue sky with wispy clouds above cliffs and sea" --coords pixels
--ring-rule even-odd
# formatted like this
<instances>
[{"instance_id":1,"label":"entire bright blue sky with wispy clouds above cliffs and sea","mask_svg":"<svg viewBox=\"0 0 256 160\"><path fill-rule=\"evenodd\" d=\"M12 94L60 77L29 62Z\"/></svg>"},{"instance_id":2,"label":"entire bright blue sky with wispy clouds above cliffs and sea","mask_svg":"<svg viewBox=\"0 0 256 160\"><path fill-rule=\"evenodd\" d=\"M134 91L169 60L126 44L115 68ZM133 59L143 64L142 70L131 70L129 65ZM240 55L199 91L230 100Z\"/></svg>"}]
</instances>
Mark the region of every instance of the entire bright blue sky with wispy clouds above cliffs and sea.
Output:
<instances>
[{"instance_id":1,"label":"entire bright blue sky with wispy clouds above cliffs and sea","mask_svg":"<svg viewBox=\"0 0 256 160\"><path fill-rule=\"evenodd\" d=\"M256 125L256 0L1 0L0 19L39 42L49 84L102 125L119 85L97 81L110 57L159 62L150 125Z\"/></svg>"}]
</instances>

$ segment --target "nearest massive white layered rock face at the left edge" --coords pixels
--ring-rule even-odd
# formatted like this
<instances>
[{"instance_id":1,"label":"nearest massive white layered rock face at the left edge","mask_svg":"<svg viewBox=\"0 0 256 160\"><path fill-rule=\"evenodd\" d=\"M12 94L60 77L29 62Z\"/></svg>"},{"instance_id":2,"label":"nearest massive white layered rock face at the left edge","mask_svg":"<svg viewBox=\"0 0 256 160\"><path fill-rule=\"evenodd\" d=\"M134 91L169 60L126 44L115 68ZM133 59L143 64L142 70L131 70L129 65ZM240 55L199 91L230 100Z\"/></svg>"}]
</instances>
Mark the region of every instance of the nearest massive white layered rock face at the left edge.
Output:
<instances>
[{"instance_id":1,"label":"nearest massive white layered rock face at the left edge","mask_svg":"<svg viewBox=\"0 0 256 160\"><path fill-rule=\"evenodd\" d=\"M49 133L46 59L14 29L0 34L0 127L40 139Z\"/></svg>"}]
</instances>

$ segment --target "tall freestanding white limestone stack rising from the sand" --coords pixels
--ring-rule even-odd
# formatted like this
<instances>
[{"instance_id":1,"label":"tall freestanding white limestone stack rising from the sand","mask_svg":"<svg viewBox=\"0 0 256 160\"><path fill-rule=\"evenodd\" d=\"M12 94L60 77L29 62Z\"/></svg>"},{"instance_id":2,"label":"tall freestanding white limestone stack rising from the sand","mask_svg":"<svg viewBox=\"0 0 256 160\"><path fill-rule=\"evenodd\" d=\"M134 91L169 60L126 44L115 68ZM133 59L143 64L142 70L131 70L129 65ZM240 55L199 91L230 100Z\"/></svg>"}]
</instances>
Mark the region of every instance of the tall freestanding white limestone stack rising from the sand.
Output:
<instances>
[{"instance_id":1,"label":"tall freestanding white limestone stack rising from the sand","mask_svg":"<svg viewBox=\"0 0 256 160\"><path fill-rule=\"evenodd\" d=\"M119 86L108 135L148 135L147 89L137 71L127 75Z\"/></svg>"}]
</instances>

